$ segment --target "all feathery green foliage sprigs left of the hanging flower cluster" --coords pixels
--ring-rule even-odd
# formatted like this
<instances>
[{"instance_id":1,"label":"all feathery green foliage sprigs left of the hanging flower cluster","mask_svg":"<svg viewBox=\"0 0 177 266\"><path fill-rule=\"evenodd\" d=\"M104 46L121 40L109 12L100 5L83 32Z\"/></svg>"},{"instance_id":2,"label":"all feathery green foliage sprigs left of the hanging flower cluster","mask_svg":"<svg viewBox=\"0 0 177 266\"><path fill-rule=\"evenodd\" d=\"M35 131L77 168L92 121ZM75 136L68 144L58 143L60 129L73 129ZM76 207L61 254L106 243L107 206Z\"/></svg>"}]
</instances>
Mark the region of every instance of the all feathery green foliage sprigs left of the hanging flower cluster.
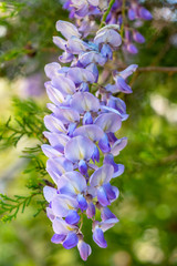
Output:
<instances>
[{"instance_id":1,"label":"all feathery green foliage sprigs left of the hanging flower cluster","mask_svg":"<svg viewBox=\"0 0 177 266\"><path fill-rule=\"evenodd\" d=\"M42 190L45 184L52 185L48 181L45 171L45 156L41 151L41 144L46 143L42 132L44 131L43 116L45 109L33 100L13 99L14 119L9 119L7 123L0 125L0 150L4 151L10 146L17 146L19 141L25 136L33 139L35 146L25 147L22 157L27 158L27 166L23 174L27 174L29 195L0 194L0 217L3 222L11 222L17 218L19 212L23 213L30 205L37 205L37 216L45 209L46 202L43 198Z\"/></svg>"}]
</instances>

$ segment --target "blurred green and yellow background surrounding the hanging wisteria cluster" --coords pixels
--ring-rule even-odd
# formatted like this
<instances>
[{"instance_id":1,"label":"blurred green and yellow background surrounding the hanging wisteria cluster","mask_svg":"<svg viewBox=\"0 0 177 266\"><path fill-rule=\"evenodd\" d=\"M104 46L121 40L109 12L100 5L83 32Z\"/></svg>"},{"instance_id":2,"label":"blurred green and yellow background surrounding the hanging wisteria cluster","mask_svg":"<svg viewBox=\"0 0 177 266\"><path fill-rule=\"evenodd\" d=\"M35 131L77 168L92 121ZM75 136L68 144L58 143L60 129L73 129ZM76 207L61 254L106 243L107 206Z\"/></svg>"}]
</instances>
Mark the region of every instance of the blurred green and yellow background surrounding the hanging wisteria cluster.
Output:
<instances>
[{"instance_id":1,"label":"blurred green and yellow background surrounding the hanging wisteria cluster","mask_svg":"<svg viewBox=\"0 0 177 266\"><path fill-rule=\"evenodd\" d=\"M175 66L177 1L142 2L154 19L139 25L146 43L138 45L137 55L126 57L126 64ZM22 104L30 98L42 121L48 102L43 68L60 54L52 43L59 19L67 20L67 12L58 0L0 1L1 131L10 115L15 127L15 117L23 114ZM134 93L124 96L129 119L118 133L128 137L117 157L125 164L125 173L114 181L121 197L112 206L121 222L105 234L108 247L101 249L94 244L90 223L84 231L93 254L86 263L76 248L65 250L52 244L45 213L33 217L39 209L35 198L17 219L0 222L0 266L177 265L177 74L170 69L142 71L129 82ZM32 124L37 114L30 114ZM24 157L23 151L39 142L34 135L24 135L15 147L4 143L0 142L0 192L10 197L28 195L29 182L38 183L40 173L37 167L28 171L35 166L35 157Z\"/></svg>"}]
</instances>

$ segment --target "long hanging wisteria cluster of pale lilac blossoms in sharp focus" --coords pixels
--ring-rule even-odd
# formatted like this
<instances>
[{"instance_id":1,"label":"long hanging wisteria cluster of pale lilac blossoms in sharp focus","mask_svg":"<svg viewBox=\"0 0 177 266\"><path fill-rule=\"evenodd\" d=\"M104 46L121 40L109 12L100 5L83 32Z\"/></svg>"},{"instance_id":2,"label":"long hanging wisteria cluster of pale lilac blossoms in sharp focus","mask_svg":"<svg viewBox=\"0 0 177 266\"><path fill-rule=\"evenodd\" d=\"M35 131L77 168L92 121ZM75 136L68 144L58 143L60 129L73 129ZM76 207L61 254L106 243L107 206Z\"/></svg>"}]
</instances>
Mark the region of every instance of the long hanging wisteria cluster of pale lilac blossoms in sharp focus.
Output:
<instances>
[{"instance_id":1,"label":"long hanging wisteria cluster of pale lilac blossoms in sharp focus","mask_svg":"<svg viewBox=\"0 0 177 266\"><path fill-rule=\"evenodd\" d=\"M74 16L84 17L100 12L101 2L72 0L66 4ZM107 246L104 233L118 222L110 209L119 195L112 180L124 172L114 157L127 144L117 133L128 115L124 101L115 94L132 93L127 78L137 65L113 71L112 82L101 85L100 71L122 44L117 24L98 29L86 41L81 27L71 22L58 21L56 30L63 35L53 39L63 50L59 61L67 66L58 62L45 65L51 114L44 117L49 144L43 144L42 151L49 157L46 171L54 185L45 186L43 193L54 231L52 243L66 249L77 246L86 260L92 249L84 241L83 216L92 221L93 241L102 248Z\"/></svg>"}]
</instances>

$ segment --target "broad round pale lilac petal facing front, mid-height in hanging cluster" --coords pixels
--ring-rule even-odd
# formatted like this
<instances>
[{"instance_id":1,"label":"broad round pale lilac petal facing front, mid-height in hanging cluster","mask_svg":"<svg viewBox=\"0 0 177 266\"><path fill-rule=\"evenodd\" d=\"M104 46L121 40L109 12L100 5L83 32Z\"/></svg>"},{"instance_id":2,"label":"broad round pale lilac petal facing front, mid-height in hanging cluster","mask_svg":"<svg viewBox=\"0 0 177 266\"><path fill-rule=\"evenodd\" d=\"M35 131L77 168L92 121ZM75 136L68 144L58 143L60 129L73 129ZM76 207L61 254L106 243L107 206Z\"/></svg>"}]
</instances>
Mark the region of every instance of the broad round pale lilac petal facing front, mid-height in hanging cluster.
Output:
<instances>
[{"instance_id":1,"label":"broad round pale lilac petal facing front, mid-height in hanging cluster","mask_svg":"<svg viewBox=\"0 0 177 266\"><path fill-rule=\"evenodd\" d=\"M94 143L85 136L75 136L67 142L64 149L65 157L72 162L90 160L94 152Z\"/></svg>"}]
</instances>

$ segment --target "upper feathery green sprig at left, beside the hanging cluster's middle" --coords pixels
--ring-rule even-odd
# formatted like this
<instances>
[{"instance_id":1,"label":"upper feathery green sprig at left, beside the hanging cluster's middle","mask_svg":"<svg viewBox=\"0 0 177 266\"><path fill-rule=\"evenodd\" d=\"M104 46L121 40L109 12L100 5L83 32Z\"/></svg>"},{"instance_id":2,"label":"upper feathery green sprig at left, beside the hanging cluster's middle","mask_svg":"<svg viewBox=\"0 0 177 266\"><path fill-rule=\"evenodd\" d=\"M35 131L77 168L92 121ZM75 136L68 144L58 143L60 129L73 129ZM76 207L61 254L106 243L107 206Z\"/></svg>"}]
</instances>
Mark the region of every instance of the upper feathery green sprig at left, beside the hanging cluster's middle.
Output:
<instances>
[{"instance_id":1,"label":"upper feathery green sprig at left, beside the hanging cluster's middle","mask_svg":"<svg viewBox=\"0 0 177 266\"><path fill-rule=\"evenodd\" d=\"M6 124L0 125L0 149L17 146L23 137L38 139L44 142L42 132L44 131L43 115L45 110L38 105L33 100L13 99L14 120L11 117Z\"/></svg>"}]
</instances>

